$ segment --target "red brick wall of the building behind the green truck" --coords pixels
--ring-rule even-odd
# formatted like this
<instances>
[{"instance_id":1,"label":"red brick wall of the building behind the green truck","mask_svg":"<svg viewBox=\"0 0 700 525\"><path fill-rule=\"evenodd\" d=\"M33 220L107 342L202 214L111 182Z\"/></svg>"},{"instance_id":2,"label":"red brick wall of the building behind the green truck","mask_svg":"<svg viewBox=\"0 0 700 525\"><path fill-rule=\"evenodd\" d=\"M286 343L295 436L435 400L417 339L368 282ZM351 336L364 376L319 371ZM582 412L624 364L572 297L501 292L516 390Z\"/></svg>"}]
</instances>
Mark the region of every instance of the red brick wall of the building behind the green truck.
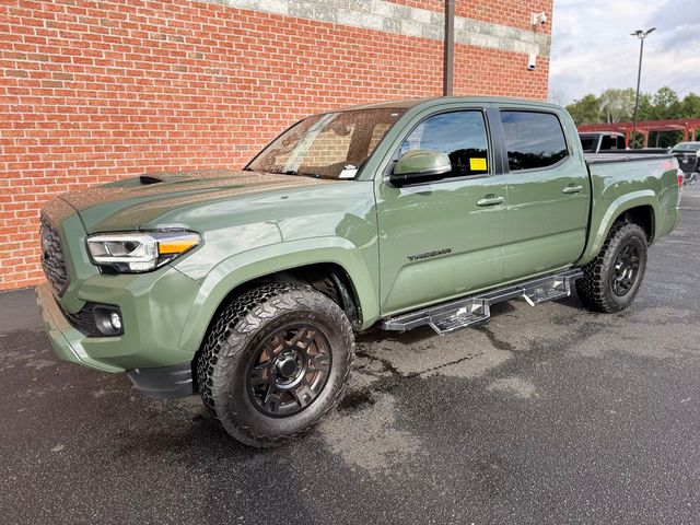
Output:
<instances>
[{"instance_id":1,"label":"red brick wall of the building behind the green truck","mask_svg":"<svg viewBox=\"0 0 700 525\"><path fill-rule=\"evenodd\" d=\"M188 0L3 2L0 290L43 279L38 210L57 192L240 167L313 112L439 95L441 60L438 40ZM455 92L545 98L547 60L525 66L458 45Z\"/></svg>"}]
</instances>

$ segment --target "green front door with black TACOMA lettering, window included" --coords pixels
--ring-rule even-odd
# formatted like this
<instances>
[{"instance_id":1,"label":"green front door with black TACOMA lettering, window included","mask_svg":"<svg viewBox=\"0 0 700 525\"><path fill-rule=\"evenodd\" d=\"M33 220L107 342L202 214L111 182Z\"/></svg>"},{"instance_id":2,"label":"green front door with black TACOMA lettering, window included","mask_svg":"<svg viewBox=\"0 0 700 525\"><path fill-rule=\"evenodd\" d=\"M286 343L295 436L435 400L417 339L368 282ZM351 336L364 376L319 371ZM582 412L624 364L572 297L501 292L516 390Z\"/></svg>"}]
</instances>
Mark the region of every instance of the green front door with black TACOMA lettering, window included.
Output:
<instances>
[{"instance_id":1,"label":"green front door with black TACOMA lettering, window included","mask_svg":"<svg viewBox=\"0 0 700 525\"><path fill-rule=\"evenodd\" d=\"M452 172L402 187L385 177L377 187L383 315L466 295L503 278L508 195L487 108L428 115L394 159L413 149L447 153Z\"/></svg>"}]
</instances>

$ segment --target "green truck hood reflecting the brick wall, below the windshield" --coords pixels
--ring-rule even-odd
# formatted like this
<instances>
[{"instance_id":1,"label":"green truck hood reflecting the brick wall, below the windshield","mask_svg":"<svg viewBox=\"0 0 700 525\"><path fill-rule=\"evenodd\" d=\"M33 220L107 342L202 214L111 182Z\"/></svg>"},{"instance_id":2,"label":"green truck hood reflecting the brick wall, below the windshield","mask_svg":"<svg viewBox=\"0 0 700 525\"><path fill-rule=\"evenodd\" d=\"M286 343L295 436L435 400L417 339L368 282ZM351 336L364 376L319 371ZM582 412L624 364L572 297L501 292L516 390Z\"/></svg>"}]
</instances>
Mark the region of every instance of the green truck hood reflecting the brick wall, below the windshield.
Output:
<instances>
[{"instance_id":1,"label":"green truck hood reflecting the brick wall, below the windshield","mask_svg":"<svg viewBox=\"0 0 700 525\"><path fill-rule=\"evenodd\" d=\"M232 170L164 172L62 194L88 233L152 225L176 209L336 180Z\"/></svg>"}]
</instances>

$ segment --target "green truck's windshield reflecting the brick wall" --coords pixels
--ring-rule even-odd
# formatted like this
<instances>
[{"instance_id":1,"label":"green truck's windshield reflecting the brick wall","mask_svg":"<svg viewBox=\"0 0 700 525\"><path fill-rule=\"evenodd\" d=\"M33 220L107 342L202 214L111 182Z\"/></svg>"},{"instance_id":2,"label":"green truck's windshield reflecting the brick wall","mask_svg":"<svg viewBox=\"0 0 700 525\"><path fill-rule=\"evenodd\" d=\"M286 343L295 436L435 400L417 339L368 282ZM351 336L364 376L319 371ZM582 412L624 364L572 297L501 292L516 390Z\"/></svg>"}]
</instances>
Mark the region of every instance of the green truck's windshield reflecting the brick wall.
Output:
<instances>
[{"instance_id":1,"label":"green truck's windshield reflecting the brick wall","mask_svg":"<svg viewBox=\"0 0 700 525\"><path fill-rule=\"evenodd\" d=\"M315 115L273 140L247 170L319 178L354 178L405 108Z\"/></svg>"}]
</instances>

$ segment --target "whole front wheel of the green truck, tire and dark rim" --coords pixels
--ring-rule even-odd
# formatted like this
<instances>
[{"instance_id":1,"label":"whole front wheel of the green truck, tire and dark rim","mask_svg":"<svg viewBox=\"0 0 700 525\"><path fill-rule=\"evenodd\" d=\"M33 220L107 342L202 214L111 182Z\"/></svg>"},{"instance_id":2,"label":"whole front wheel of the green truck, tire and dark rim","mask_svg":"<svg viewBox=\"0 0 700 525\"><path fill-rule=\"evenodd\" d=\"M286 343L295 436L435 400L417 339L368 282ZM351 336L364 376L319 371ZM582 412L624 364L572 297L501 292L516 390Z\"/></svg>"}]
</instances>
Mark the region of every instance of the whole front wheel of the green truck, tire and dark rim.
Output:
<instances>
[{"instance_id":1,"label":"whole front wheel of the green truck, tire and dark rim","mask_svg":"<svg viewBox=\"0 0 700 525\"><path fill-rule=\"evenodd\" d=\"M342 310L310 287L245 293L217 319L200 352L200 394L223 428L253 446L307 432L340 399L354 339Z\"/></svg>"}]
</instances>

